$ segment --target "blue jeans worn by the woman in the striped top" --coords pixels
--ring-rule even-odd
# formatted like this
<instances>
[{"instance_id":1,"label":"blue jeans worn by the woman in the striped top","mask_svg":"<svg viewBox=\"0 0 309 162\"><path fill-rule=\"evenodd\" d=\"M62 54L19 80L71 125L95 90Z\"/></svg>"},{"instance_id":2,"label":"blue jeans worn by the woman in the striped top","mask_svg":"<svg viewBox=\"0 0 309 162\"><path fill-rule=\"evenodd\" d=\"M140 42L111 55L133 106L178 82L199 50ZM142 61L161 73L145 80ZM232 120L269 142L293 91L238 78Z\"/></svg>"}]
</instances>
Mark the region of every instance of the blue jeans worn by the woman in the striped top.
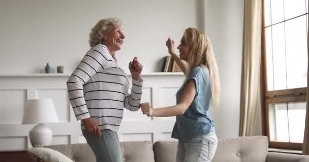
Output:
<instances>
[{"instance_id":1,"label":"blue jeans worn by the woman in the striped top","mask_svg":"<svg viewBox=\"0 0 309 162\"><path fill-rule=\"evenodd\" d=\"M101 130L101 137L89 134L86 130L82 133L88 145L96 155L97 162L122 162L122 154L117 133L108 129Z\"/></svg>"}]
</instances>

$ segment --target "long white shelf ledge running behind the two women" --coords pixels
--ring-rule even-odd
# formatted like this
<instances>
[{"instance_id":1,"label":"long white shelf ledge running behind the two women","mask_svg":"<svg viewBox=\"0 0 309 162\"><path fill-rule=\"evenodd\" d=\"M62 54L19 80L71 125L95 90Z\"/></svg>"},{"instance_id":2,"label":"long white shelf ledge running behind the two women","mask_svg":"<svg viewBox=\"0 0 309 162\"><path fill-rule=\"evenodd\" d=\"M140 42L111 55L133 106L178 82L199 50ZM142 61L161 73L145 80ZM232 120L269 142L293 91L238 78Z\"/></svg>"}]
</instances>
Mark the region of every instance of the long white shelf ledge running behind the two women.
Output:
<instances>
[{"instance_id":1,"label":"long white shelf ledge running behind the two women","mask_svg":"<svg viewBox=\"0 0 309 162\"><path fill-rule=\"evenodd\" d=\"M45 77L45 76L67 76L69 73L28 73L28 74L0 74L0 77ZM127 74L131 75L131 74ZM149 72L142 73L142 76L170 76L170 75L184 75L182 72Z\"/></svg>"}]
</instances>

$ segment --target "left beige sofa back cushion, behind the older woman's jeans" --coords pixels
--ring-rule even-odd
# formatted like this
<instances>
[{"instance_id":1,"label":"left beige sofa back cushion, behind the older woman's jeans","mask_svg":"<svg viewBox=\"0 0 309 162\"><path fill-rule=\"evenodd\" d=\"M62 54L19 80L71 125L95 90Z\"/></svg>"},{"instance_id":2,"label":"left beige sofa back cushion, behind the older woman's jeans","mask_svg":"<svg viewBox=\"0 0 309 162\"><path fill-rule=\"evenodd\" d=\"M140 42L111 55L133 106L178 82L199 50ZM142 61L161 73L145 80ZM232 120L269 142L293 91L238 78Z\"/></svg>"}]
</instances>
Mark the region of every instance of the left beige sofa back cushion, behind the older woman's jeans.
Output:
<instances>
[{"instance_id":1,"label":"left beige sofa back cushion, behind the older woman's jeans","mask_svg":"<svg viewBox=\"0 0 309 162\"><path fill-rule=\"evenodd\" d=\"M44 146L57 150L76 162L96 162L95 154L89 145L69 144ZM154 162L154 153L150 141L121 142L122 160L126 162ZM103 150L102 150L103 151Z\"/></svg>"}]
</instances>

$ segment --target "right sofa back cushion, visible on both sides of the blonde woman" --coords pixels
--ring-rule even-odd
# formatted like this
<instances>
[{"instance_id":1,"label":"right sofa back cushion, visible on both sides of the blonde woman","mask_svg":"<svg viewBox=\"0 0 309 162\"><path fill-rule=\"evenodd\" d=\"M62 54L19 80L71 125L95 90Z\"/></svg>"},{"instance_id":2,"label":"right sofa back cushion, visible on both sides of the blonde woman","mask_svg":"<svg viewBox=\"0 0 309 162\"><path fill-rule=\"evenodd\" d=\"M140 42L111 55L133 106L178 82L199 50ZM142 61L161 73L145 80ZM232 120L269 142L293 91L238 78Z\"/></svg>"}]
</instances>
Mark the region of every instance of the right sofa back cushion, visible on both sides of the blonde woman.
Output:
<instances>
[{"instance_id":1,"label":"right sofa back cushion, visible on both sides of the blonde woman","mask_svg":"<svg viewBox=\"0 0 309 162\"><path fill-rule=\"evenodd\" d=\"M157 162L174 162L176 160L177 142L157 141L153 146ZM266 136L219 139L212 161L265 162L267 152L268 138Z\"/></svg>"}]
</instances>

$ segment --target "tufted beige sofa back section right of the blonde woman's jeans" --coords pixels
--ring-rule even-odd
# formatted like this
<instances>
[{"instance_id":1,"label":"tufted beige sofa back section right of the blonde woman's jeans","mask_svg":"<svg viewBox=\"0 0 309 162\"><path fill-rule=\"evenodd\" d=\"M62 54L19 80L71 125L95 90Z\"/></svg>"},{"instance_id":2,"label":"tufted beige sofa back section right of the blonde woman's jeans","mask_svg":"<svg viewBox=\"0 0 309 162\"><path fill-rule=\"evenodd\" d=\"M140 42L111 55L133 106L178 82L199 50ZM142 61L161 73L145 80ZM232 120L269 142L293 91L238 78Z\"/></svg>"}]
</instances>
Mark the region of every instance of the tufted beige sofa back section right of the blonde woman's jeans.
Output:
<instances>
[{"instance_id":1,"label":"tufted beige sofa back section right of the blonde woman's jeans","mask_svg":"<svg viewBox=\"0 0 309 162\"><path fill-rule=\"evenodd\" d=\"M267 152L266 136L220 139L212 161L265 162Z\"/></svg>"}]
</instances>

